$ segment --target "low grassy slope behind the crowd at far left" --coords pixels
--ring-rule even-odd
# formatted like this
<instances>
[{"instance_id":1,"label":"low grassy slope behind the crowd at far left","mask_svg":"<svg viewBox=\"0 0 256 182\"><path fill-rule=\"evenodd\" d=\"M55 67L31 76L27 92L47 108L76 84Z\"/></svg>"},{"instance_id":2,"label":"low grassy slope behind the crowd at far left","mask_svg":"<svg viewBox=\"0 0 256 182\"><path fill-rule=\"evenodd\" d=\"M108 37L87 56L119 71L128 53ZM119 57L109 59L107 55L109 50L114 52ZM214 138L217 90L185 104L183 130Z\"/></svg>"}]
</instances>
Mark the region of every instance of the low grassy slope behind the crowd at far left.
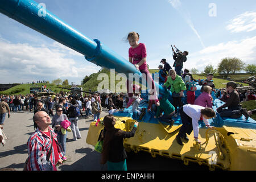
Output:
<instances>
[{"instance_id":1,"label":"low grassy slope behind the crowd at far left","mask_svg":"<svg viewBox=\"0 0 256 182\"><path fill-rule=\"evenodd\" d=\"M59 89L57 87L61 87L62 85L53 85L53 84L20 84L16 85L8 90L0 92L0 94L7 94L7 95L26 95L30 93L30 88L41 88L42 85L46 85L46 88L50 88L52 92L59 93L60 91L69 92L70 90L67 89ZM68 85L67 88L71 88L71 85Z\"/></svg>"}]
</instances>

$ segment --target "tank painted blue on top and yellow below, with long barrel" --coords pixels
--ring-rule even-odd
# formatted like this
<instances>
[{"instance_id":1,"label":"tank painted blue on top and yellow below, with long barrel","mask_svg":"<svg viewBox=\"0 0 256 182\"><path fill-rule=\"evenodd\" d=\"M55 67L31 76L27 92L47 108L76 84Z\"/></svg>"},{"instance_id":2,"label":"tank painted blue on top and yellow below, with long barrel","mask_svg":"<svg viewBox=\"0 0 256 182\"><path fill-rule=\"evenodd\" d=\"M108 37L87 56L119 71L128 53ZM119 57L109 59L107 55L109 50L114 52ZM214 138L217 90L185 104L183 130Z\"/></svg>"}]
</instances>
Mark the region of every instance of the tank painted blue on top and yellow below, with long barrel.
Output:
<instances>
[{"instance_id":1,"label":"tank painted blue on top and yellow below, with long barrel","mask_svg":"<svg viewBox=\"0 0 256 182\"><path fill-rule=\"evenodd\" d=\"M100 40L90 40L75 28L69 26L63 20L46 10L43 16L39 16L38 3L32 0L0 0L0 12L10 18L28 26L35 31L56 40L57 42L74 49L85 56L87 61L107 69L115 69L117 73L137 73L134 65L119 56ZM159 95L166 91L158 83ZM197 85L196 94L200 94L200 86ZM147 107L147 93L143 94L144 101L141 107ZM169 97L172 102L171 94ZM185 97L184 97L185 101ZM213 109L222 105L222 101L214 97ZM130 131L133 123L138 120L131 113L131 107L123 112L114 113L117 118L116 128ZM221 168L224 170L255 170L256 166L256 122L244 117L238 119L216 118L210 119L210 125L215 126L209 130L200 122L199 139L201 144L193 141L193 132L189 135L189 142L180 146L175 137L181 127L180 117L175 118L174 125L165 125L153 117L152 113L146 113L133 138L125 139L123 146L127 151L135 153L139 151L149 152L152 157L156 155L167 158L183 160L185 165L198 163L209 166L209 169ZM103 118L101 118L102 121ZM92 122L89 127L86 143L93 146L97 143L104 125Z\"/></svg>"}]
</instances>

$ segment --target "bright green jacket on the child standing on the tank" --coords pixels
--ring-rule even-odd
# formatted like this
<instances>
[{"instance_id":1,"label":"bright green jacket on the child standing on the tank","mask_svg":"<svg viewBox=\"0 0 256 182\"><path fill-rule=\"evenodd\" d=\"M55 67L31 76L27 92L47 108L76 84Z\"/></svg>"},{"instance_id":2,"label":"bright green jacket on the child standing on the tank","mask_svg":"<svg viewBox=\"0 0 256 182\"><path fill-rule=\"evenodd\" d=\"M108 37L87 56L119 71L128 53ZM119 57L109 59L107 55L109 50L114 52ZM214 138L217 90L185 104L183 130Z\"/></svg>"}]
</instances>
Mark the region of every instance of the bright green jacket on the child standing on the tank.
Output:
<instances>
[{"instance_id":1,"label":"bright green jacket on the child standing on the tank","mask_svg":"<svg viewBox=\"0 0 256 182\"><path fill-rule=\"evenodd\" d=\"M168 87L171 85L170 91L172 93L179 93L181 90L187 90L187 87L182 80L181 76L176 74L175 80L172 80L171 76L168 76L167 81L164 83L164 86Z\"/></svg>"}]
</instances>

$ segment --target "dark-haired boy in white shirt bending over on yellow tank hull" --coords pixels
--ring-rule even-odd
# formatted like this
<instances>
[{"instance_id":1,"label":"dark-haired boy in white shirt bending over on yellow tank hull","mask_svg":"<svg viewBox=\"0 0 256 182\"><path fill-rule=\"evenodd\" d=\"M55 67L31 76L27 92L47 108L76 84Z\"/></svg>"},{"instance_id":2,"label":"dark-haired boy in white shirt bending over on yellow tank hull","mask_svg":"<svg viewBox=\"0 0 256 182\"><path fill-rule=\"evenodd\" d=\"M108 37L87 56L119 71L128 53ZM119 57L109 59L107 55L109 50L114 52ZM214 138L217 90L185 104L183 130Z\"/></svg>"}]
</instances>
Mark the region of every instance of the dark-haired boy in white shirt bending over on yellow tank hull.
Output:
<instances>
[{"instance_id":1,"label":"dark-haired boy in white shirt bending over on yellow tank hull","mask_svg":"<svg viewBox=\"0 0 256 182\"><path fill-rule=\"evenodd\" d=\"M210 129L213 129L213 126L209 125L208 119L215 117L216 114L214 110L210 107L202 107L198 105L187 104L180 108L180 117L183 125L180 128L179 134L176 136L176 141L180 145L183 145L181 138L188 142L187 134L190 135L194 131L194 138L196 142L201 143L198 139L199 134L199 120L203 120L205 125ZM186 134L187 133L187 134Z\"/></svg>"}]
</instances>

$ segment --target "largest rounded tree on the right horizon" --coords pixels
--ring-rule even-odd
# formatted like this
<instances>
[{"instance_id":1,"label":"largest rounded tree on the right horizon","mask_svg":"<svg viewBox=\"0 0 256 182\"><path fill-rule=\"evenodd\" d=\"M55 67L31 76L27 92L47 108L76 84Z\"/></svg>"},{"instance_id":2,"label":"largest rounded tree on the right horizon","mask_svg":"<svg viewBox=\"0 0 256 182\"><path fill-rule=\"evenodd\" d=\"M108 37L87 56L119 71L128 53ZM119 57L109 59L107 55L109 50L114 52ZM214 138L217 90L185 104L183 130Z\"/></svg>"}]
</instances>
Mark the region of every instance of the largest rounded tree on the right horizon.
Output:
<instances>
[{"instance_id":1,"label":"largest rounded tree on the right horizon","mask_svg":"<svg viewBox=\"0 0 256 182\"><path fill-rule=\"evenodd\" d=\"M224 77L228 77L229 73L236 73L243 69L243 61L236 57L225 57L218 64L218 73L224 73Z\"/></svg>"}]
</instances>

